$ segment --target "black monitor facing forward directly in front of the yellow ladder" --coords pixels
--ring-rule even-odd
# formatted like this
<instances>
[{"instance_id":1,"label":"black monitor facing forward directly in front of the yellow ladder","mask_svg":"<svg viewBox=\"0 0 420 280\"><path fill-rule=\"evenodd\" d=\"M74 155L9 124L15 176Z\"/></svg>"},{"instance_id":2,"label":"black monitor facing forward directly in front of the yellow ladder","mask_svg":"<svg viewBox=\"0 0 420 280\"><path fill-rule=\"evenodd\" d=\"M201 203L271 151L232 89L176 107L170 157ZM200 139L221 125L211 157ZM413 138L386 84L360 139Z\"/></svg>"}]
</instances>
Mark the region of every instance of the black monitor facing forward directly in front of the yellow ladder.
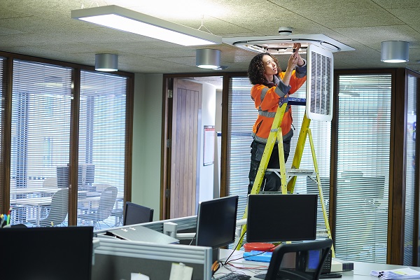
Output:
<instances>
[{"instance_id":1,"label":"black monitor facing forward directly in front of the yellow ladder","mask_svg":"<svg viewBox=\"0 0 420 280\"><path fill-rule=\"evenodd\" d=\"M248 195L246 241L316 239L318 195Z\"/></svg>"}]
</instances>

